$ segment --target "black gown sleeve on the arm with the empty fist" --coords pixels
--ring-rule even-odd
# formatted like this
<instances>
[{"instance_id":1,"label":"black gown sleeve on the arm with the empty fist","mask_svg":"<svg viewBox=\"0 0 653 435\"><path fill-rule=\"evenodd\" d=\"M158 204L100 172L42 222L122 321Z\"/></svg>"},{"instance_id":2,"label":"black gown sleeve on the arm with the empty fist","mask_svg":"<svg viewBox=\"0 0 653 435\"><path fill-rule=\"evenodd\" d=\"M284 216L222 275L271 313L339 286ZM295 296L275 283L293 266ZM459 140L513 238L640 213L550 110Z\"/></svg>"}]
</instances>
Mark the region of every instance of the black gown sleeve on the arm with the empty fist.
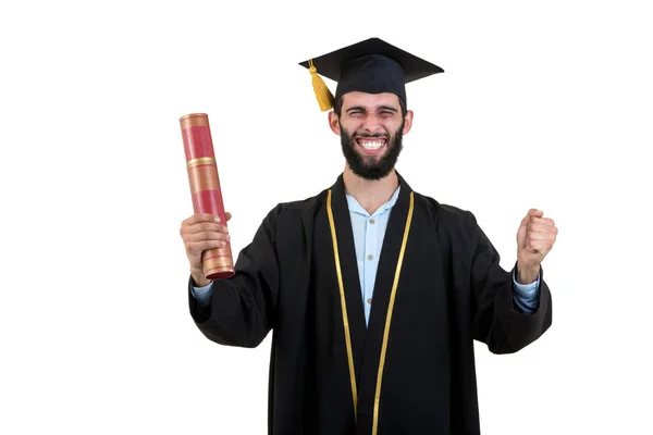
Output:
<instances>
[{"instance_id":1,"label":"black gown sleeve on the arm with the empty fist","mask_svg":"<svg viewBox=\"0 0 653 435\"><path fill-rule=\"evenodd\" d=\"M475 338L493 353L512 353L538 339L551 326L552 300L540 270L540 303L525 313L513 298L513 276L500 265L500 256L472 213L467 212L471 246L471 291Z\"/></svg>"}]
</instances>

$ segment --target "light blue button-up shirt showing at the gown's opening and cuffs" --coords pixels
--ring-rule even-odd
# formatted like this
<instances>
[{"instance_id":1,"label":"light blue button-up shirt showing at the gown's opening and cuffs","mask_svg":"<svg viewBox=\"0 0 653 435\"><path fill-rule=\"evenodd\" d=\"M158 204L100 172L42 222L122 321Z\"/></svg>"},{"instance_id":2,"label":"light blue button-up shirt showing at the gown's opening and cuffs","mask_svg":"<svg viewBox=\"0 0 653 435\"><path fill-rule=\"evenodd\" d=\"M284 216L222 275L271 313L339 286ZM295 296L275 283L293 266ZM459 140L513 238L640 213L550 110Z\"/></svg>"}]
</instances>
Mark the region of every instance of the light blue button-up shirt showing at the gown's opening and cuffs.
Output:
<instances>
[{"instance_id":1,"label":"light blue button-up shirt showing at the gown's opening and cuffs","mask_svg":"<svg viewBox=\"0 0 653 435\"><path fill-rule=\"evenodd\" d=\"M356 260L358 262L358 274L360 278L360 291L362 306L365 307L366 324L369 323L370 310L372 308L374 281L379 268L379 257L383 246L383 237L390 219L390 211L399 197L397 187L390 201L381 206L373 214L360 206L356 198L347 195L352 228L354 229L354 245L356 247ZM518 284L513 276L513 298L515 303L526 313L532 313L539 302L540 277L532 284ZM199 303L208 303L211 298L211 285L206 287L193 287L195 298Z\"/></svg>"}]
</instances>

